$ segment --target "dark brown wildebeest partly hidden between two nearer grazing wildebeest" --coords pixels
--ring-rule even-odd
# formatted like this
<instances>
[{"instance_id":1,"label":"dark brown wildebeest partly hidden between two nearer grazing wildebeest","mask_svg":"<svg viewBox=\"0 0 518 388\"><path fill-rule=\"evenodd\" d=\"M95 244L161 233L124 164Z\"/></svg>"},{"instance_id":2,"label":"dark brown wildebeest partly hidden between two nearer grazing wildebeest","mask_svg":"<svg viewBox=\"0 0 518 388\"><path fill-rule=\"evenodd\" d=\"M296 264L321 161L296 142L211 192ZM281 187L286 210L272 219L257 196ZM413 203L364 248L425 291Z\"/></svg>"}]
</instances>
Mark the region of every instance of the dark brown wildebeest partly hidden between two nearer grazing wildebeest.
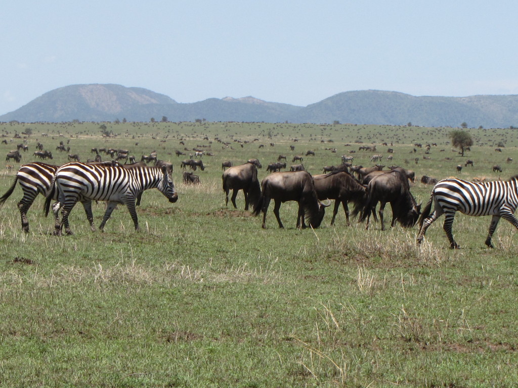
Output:
<instances>
[{"instance_id":1,"label":"dark brown wildebeest partly hidden between two nearer grazing wildebeest","mask_svg":"<svg viewBox=\"0 0 518 388\"><path fill-rule=\"evenodd\" d=\"M313 183L316 190L316 196L319 200L335 200L331 225L334 225L335 223L335 217L338 213L340 203L343 206L343 211L346 213L348 226L350 225L350 222L347 202L354 202L354 214L359 213L359 210L361 210L365 205L365 201L367 199L367 191L365 187L359 184L348 172L334 171L329 174L313 175Z\"/></svg>"}]
</instances>

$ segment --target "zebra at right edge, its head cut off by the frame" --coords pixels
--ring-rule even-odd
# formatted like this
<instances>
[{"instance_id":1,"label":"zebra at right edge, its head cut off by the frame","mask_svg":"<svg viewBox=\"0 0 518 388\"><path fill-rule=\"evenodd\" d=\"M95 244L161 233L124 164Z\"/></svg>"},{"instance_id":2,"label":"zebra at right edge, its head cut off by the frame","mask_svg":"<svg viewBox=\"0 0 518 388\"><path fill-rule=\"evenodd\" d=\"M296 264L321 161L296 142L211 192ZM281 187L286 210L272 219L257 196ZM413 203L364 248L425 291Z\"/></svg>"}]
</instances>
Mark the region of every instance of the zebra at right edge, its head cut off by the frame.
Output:
<instances>
[{"instance_id":1,"label":"zebra at right edge, its head cut off by the frame","mask_svg":"<svg viewBox=\"0 0 518 388\"><path fill-rule=\"evenodd\" d=\"M430 214L431 204L434 201L434 212ZM493 216L485 241L485 245L493 248L491 237L500 217L508 220L518 229L518 220L514 216L516 207L518 207L518 175L503 182L474 183L454 178L445 179L434 186L430 201L419 219L421 229L417 243L420 244L424 240L426 229L444 213L443 229L450 241L450 248L459 248L452 234L453 217L455 212L459 211L468 216Z\"/></svg>"}]
</instances>

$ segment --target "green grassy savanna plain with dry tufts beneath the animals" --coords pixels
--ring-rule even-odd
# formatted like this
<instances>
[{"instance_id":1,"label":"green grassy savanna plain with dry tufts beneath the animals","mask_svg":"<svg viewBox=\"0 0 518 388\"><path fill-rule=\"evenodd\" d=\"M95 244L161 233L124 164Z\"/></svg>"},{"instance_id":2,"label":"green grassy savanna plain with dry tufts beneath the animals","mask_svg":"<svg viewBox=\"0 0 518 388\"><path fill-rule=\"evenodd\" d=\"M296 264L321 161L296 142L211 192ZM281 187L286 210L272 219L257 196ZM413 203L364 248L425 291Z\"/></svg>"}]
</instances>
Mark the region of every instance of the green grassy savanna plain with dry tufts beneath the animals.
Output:
<instances>
[{"instance_id":1,"label":"green grassy savanna plain with dry tufts beneath the animals","mask_svg":"<svg viewBox=\"0 0 518 388\"><path fill-rule=\"evenodd\" d=\"M382 154L384 165L416 172L411 191L425 204L431 186L418 182L424 174L494 180L518 173L514 130L467 129L475 144L462 158L447 143L450 128L105 125L117 136L103 138L99 123L0 125L8 141L2 155L21 143L10 142L16 133L32 131L22 163L34 161L37 141L56 165L67 161L55 151L59 141L82 160L92 147L127 148L137 159L156 150L174 163L179 193L175 204L157 190L144 193L137 208L141 232L119 206L105 233L92 233L76 206L70 217L75 234L55 237L42 197L28 213L31 232L21 232L17 188L0 213L0 386L516 385L518 237L506 221L492 250L484 245L490 218L460 214L453 228L463 249L455 251L448 249L443 218L421 247L414 243L417 227L348 227L341 209L334 227L328 208L319 229L298 230L295 203L281 207L283 230L270 206L263 230L259 217L243 211L241 193L234 210L221 189L225 160L260 159L262 179L280 154L288 167L294 155L304 155L313 174L338 165L343 154L363 166ZM425 160L424 145L432 142L437 146ZM423 148L414 153L414 143ZM502 153L495 152L498 143L505 145ZM376 152L358 151L372 144ZM207 169L196 172L202 183L186 186L180 162L189 156L177 157L175 150L189 154L184 147L197 145L210 145L206 150L214 155L204 156ZM389 147L392 162L385 160ZM315 156L306 157L308 150ZM468 158L474 167L457 173L455 166ZM14 168L3 169L0 193L19 167L5 164ZM495 164L501 174L492 172ZM103 213L104 204L94 205L97 225ZM385 214L390 221L390 206Z\"/></svg>"}]
</instances>

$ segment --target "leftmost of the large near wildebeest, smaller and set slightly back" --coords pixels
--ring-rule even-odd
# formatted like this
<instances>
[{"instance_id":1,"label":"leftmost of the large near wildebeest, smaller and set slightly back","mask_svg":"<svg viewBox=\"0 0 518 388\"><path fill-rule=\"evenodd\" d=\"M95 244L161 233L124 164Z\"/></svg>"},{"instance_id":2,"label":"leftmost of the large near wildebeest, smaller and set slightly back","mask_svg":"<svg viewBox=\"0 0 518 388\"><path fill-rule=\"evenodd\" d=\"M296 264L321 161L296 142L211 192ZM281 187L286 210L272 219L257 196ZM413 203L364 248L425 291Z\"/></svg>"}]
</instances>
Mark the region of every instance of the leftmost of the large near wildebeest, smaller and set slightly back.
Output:
<instances>
[{"instance_id":1,"label":"leftmost of the large near wildebeest, smaller and set slightly back","mask_svg":"<svg viewBox=\"0 0 518 388\"><path fill-rule=\"evenodd\" d=\"M221 178L223 180L223 191L225 191L225 206L228 206L229 191L234 190L231 200L234 207L237 208L237 193L239 190L243 190L244 210L248 210L250 204L255 210L261 195L261 186L257 178L257 167L253 163L231 167L223 173Z\"/></svg>"}]
</instances>

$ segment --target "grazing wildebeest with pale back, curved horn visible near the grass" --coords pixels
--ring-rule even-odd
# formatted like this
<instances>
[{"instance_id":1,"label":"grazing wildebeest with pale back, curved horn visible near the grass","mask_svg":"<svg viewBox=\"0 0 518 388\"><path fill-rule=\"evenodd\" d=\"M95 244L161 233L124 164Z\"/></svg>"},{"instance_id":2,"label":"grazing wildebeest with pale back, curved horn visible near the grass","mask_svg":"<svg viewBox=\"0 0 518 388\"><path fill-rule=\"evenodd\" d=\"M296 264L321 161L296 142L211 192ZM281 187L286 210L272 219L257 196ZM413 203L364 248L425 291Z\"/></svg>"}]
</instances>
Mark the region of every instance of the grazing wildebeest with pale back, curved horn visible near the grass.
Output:
<instances>
[{"instance_id":1,"label":"grazing wildebeest with pale back, curved horn visible near the grass","mask_svg":"<svg viewBox=\"0 0 518 388\"><path fill-rule=\"evenodd\" d=\"M263 229L266 228L266 213L270 200L275 201L274 214L279 228L284 228L279 216L282 202L297 201L297 228L306 228L305 218L311 228L318 228L324 218L325 207L316 196L313 177L307 171L282 171L268 175L261 183L261 196L255 206L254 215L263 212Z\"/></svg>"}]
</instances>

